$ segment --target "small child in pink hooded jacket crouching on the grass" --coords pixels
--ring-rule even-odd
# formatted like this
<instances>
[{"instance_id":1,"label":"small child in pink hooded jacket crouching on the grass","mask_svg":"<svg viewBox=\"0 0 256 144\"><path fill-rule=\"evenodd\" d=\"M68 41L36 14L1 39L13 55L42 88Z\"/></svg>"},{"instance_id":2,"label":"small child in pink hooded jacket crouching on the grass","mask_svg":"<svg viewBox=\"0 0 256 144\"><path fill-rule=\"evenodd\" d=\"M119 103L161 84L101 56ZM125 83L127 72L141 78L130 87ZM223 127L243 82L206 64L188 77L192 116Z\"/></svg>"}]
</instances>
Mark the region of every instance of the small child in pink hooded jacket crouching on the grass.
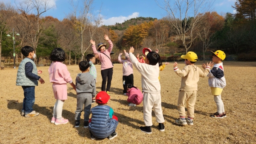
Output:
<instances>
[{"instance_id":1,"label":"small child in pink hooded jacket crouching on the grass","mask_svg":"<svg viewBox=\"0 0 256 144\"><path fill-rule=\"evenodd\" d=\"M143 100L143 93L132 84L127 84L127 101L139 105Z\"/></svg>"}]
</instances>

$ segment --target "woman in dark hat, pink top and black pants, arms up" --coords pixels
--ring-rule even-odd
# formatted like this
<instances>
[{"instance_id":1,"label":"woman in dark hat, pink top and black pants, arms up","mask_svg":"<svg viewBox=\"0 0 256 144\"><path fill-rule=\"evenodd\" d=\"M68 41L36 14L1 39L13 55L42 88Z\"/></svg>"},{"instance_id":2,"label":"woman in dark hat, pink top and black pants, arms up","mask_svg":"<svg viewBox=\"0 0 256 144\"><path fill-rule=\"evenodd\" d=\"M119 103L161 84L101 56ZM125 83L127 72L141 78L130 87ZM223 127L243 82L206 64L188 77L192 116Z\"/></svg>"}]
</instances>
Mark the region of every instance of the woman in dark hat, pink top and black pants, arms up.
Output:
<instances>
[{"instance_id":1,"label":"woman in dark hat, pink top and black pants, arms up","mask_svg":"<svg viewBox=\"0 0 256 144\"><path fill-rule=\"evenodd\" d=\"M109 94L111 81L112 81L112 75L113 75L113 63L110 59L110 53L113 49L113 43L108 38L108 35L104 35L104 39L108 41L109 47L106 49L105 46L107 46L105 43L99 43L98 44L98 51L95 46L95 41L90 40L90 43L92 43L93 53L94 55L99 55L99 60L101 62L101 75L102 75L102 91L106 91ZM106 89L106 82L108 79L107 89Z\"/></svg>"}]
</instances>

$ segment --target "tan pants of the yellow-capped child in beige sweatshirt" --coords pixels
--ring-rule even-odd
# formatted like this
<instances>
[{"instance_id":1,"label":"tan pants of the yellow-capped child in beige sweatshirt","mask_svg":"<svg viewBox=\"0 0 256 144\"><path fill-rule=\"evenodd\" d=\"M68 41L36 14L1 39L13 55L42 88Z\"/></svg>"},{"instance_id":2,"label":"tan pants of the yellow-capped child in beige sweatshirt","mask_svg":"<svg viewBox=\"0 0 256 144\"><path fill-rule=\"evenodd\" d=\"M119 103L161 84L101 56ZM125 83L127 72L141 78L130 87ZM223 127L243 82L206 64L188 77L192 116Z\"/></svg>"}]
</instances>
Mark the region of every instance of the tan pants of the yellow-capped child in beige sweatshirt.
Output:
<instances>
[{"instance_id":1,"label":"tan pants of the yellow-capped child in beige sweatshirt","mask_svg":"<svg viewBox=\"0 0 256 144\"><path fill-rule=\"evenodd\" d=\"M195 101L196 101L197 91L182 91L180 90L177 109L179 111L180 116L185 117L185 104L188 110L187 115L190 118L194 118L194 109L195 109Z\"/></svg>"}]
</instances>

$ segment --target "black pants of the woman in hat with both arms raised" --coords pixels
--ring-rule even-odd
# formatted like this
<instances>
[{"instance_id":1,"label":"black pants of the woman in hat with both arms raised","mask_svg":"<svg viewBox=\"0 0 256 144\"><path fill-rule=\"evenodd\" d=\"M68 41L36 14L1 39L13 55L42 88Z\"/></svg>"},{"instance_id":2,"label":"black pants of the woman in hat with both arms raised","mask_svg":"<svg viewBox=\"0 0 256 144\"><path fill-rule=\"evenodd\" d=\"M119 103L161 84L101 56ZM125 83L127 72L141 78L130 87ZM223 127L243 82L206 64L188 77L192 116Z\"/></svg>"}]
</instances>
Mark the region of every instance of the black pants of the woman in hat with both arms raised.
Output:
<instances>
[{"instance_id":1,"label":"black pants of the woman in hat with both arms raised","mask_svg":"<svg viewBox=\"0 0 256 144\"><path fill-rule=\"evenodd\" d=\"M105 89L106 89L107 78L108 78L108 84L107 84L106 91L110 91L112 75L113 75L113 68L103 69L103 70L101 70L101 74L102 74L102 91L105 91Z\"/></svg>"}]
</instances>

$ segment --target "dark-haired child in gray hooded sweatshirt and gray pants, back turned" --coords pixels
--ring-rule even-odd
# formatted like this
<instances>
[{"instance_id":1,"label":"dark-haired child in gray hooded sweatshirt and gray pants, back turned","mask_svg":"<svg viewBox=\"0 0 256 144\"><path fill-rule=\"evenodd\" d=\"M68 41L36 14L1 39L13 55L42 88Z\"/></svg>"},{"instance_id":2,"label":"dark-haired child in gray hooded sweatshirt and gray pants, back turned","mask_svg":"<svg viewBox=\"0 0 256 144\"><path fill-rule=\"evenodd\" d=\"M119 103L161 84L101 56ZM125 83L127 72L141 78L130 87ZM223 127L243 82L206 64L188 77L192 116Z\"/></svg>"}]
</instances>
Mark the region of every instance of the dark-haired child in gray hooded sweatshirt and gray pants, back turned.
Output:
<instances>
[{"instance_id":1,"label":"dark-haired child in gray hooded sweatshirt and gray pants, back turned","mask_svg":"<svg viewBox=\"0 0 256 144\"><path fill-rule=\"evenodd\" d=\"M79 63L79 69L82 73L76 76L76 116L75 127L80 125L80 116L84 108L84 128L89 126L90 109L92 100L95 99L96 87L93 75L89 73L90 64L87 61Z\"/></svg>"}]
</instances>

